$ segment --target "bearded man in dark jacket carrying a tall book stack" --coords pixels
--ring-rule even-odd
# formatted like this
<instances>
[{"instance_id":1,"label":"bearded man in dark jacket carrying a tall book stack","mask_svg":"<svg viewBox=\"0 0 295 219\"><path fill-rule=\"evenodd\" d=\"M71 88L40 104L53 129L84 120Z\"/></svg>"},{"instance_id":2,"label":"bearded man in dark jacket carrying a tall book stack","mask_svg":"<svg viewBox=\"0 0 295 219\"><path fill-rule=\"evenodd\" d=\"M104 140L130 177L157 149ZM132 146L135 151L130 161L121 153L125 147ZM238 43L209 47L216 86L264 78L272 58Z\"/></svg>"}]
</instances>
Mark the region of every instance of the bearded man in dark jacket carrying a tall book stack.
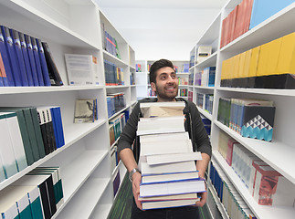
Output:
<instances>
[{"instance_id":1,"label":"bearded man in dark jacket carrying a tall book stack","mask_svg":"<svg viewBox=\"0 0 295 219\"><path fill-rule=\"evenodd\" d=\"M167 209L156 209L142 211L142 203L138 201L140 193L140 183L142 174L138 170L137 162L140 153L140 145L136 139L136 130L138 120L141 117L140 103L151 101L177 101L184 99L176 99L178 93L178 78L174 71L174 65L171 61L160 59L155 61L150 68L150 81L153 91L156 92L156 99L142 99L132 110L130 119L127 121L124 130L121 133L118 141L118 151L121 161L130 172L132 181L132 192L134 203L132 205L132 219L142 218L197 218L197 208L195 206L203 206L206 201L207 193L201 193L200 202L195 203L195 206L175 207ZM200 114L195 107L195 104L190 101L185 101L184 115L185 130L188 131L193 142L194 151L201 151L202 161L196 162L196 170L199 171L199 176L205 177L205 170L210 161L212 149L208 136L205 132ZM132 143L135 140L132 151Z\"/></svg>"}]
</instances>

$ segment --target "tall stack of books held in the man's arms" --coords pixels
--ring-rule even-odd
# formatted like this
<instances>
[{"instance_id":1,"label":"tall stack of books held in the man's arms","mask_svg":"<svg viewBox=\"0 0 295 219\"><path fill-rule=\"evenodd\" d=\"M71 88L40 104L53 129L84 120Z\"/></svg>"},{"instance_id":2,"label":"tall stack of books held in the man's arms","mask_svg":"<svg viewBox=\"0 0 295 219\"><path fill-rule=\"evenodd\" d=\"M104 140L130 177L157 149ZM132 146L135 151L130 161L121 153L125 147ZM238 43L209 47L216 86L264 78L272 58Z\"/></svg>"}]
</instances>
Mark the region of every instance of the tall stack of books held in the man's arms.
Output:
<instances>
[{"instance_id":1,"label":"tall stack of books held in the man's arms","mask_svg":"<svg viewBox=\"0 0 295 219\"><path fill-rule=\"evenodd\" d=\"M143 118L138 123L140 136L142 209L193 205L197 193L205 192L198 177L192 141L184 130L184 102L141 103Z\"/></svg>"}]
</instances>

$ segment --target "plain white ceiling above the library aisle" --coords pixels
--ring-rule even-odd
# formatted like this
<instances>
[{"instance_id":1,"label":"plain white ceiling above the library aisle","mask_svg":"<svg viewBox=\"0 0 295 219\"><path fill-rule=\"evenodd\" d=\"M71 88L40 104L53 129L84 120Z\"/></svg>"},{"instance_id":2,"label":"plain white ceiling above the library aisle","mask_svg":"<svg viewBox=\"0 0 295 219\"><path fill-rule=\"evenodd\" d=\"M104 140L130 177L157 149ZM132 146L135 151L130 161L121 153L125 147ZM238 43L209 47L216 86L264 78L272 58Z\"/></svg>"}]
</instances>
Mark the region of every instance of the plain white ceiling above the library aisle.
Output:
<instances>
[{"instance_id":1,"label":"plain white ceiling above the library aisle","mask_svg":"<svg viewBox=\"0 0 295 219\"><path fill-rule=\"evenodd\" d=\"M136 59L188 60L227 0L95 0Z\"/></svg>"}]
</instances>

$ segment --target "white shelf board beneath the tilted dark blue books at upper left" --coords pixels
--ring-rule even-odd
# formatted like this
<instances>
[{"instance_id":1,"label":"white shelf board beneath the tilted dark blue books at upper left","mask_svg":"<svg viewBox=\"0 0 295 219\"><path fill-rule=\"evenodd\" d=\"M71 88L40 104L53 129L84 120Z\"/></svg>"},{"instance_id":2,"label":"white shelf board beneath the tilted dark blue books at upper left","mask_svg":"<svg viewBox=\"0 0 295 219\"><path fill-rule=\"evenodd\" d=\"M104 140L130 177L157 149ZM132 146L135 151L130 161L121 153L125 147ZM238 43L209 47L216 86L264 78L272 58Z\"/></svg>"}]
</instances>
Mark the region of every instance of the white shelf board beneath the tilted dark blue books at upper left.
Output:
<instances>
[{"instance_id":1,"label":"white shelf board beneath the tilted dark blue books at upper left","mask_svg":"<svg viewBox=\"0 0 295 219\"><path fill-rule=\"evenodd\" d=\"M103 86L1 87L0 94L47 93L103 89Z\"/></svg>"}]
</instances>

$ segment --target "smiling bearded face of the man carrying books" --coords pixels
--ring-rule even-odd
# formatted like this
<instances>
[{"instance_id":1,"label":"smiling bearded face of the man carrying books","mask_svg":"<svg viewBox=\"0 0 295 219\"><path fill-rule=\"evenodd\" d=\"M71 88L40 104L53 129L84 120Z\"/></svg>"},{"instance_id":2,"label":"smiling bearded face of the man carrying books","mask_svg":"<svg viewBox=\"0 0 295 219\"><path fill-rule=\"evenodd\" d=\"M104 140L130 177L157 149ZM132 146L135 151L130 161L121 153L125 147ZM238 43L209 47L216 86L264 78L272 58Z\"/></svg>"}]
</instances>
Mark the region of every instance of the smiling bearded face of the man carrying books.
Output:
<instances>
[{"instance_id":1,"label":"smiling bearded face of the man carrying books","mask_svg":"<svg viewBox=\"0 0 295 219\"><path fill-rule=\"evenodd\" d=\"M151 83L157 92L158 101L172 101L178 94L178 78L173 68L164 67L156 71L156 83Z\"/></svg>"}]
</instances>

